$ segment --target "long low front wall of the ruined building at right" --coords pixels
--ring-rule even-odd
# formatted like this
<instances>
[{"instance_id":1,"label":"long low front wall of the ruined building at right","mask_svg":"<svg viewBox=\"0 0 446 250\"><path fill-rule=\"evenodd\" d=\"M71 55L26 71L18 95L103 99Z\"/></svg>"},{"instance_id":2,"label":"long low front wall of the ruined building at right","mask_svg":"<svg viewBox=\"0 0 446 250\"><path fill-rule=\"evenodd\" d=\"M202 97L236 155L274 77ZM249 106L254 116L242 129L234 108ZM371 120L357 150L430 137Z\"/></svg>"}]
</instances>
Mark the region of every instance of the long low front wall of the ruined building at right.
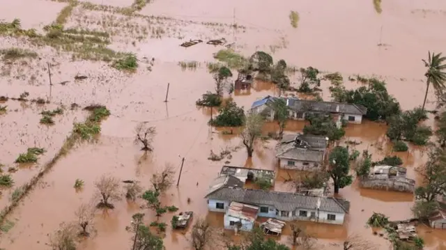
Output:
<instances>
[{"instance_id":1,"label":"long low front wall of the ruined building at right","mask_svg":"<svg viewBox=\"0 0 446 250\"><path fill-rule=\"evenodd\" d=\"M361 187L369 189L381 189L387 191L413 193L415 183L398 179L363 178L360 180Z\"/></svg>"}]
</instances>

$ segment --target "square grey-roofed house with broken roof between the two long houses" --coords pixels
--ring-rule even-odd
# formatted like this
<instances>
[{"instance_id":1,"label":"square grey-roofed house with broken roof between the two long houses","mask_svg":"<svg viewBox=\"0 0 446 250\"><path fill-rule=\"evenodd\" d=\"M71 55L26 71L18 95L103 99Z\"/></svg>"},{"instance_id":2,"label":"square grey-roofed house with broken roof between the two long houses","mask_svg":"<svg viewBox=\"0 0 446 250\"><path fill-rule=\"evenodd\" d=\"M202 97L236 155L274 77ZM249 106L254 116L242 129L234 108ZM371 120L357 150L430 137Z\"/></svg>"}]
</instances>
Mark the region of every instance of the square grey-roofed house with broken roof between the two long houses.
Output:
<instances>
[{"instance_id":1,"label":"square grey-roofed house with broken roof between the two long houses","mask_svg":"<svg viewBox=\"0 0 446 250\"><path fill-rule=\"evenodd\" d=\"M285 134L275 147L283 169L320 170L328 147L328 138L310 134Z\"/></svg>"}]
</instances>

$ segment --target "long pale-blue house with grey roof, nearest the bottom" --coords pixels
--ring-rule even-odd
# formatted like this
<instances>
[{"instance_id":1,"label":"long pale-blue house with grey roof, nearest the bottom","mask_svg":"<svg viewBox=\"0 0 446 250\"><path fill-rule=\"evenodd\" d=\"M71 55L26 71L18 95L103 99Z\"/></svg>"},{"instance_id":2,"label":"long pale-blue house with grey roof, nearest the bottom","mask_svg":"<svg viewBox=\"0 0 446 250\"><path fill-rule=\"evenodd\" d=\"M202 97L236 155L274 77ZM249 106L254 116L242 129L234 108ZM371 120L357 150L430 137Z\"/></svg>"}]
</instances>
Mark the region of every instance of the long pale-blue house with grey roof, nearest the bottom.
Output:
<instances>
[{"instance_id":1,"label":"long pale-blue house with grey roof, nearest the bottom","mask_svg":"<svg viewBox=\"0 0 446 250\"><path fill-rule=\"evenodd\" d=\"M230 175L229 175L230 176ZM206 197L208 210L226 212L233 201L259 207L257 216L282 221L307 220L343 224L350 202L334 197L270 192L240 187L211 187Z\"/></svg>"}]
</instances>

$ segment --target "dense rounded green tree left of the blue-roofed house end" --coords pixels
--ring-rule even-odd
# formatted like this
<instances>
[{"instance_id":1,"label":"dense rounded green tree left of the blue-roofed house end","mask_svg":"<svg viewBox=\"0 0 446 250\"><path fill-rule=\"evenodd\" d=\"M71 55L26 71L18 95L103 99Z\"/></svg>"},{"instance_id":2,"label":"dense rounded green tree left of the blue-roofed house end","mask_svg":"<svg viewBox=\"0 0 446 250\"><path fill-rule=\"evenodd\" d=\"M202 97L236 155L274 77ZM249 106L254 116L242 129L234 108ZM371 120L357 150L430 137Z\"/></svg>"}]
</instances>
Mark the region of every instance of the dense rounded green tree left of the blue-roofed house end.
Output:
<instances>
[{"instance_id":1,"label":"dense rounded green tree left of the blue-roofed house end","mask_svg":"<svg viewBox=\"0 0 446 250\"><path fill-rule=\"evenodd\" d=\"M216 127L239 127L243 125L245 111L243 111L243 107L238 107L236 102L230 100L220 107L218 111L220 114L210 121L211 125Z\"/></svg>"}]
</instances>

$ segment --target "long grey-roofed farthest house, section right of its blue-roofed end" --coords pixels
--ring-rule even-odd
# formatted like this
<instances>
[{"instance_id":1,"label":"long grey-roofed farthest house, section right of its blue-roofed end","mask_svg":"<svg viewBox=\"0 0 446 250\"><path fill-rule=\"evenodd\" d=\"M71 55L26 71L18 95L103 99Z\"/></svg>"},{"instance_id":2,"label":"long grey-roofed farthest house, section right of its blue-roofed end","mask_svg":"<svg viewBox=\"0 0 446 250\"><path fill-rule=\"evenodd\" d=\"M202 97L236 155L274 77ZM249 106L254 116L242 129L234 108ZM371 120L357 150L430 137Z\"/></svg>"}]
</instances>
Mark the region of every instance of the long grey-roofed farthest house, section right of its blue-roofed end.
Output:
<instances>
[{"instance_id":1,"label":"long grey-roofed farthest house, section right of its blue-roofed end","mask_svg":"<svg viewBox=\"0 0 446 250\"><path fill-rule=\"evenodd\" d=\"M361 105L341 102L320 102L316 100L293 100L289 103L289 117L304 120L307 114L339 115L349 123L362 123L367 108Z\"/></svg>"}]
</instances>

